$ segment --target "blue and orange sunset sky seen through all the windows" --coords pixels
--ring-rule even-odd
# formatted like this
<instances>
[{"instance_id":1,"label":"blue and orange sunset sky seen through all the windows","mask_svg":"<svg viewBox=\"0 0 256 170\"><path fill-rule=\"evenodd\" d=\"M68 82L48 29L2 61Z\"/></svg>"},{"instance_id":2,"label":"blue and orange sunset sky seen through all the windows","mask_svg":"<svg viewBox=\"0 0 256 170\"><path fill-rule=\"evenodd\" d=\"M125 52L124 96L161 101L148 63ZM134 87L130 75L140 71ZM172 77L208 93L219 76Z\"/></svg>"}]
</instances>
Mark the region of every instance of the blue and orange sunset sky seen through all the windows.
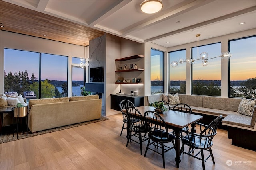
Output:
<instances>
[{"instance_id":1,"label":"blue and orange sunset sky seen through all the windows","mask_svg":"<svg viewBox=\"0 0 256 170\"><path fill-rule=\"evenodd\" d=\"M220 43L199 47L199 55L207 52L209 58L217 57L221 53ZM230 41L230 80L246 80L256 77L256 37ZM197 48L194 48L194 58L197 58ZM151 67L151 80L162 80L160 74L159 51L153 51ZM171 53L170 60L178 61L180 58L186 59L186 51L177 51ZM246 57L246 58L245 58ZM42 54L42 80L67 80L68 57ZM72 60L74 63L80 63L80 60ZM221 58L210 59L208 66L202 66L201 60L193 65L193 80L221 80ZM36 78L39 74L39 53L21 51L21 50L4 50L4 70L6 74L15 71L28 71L29 77L34 73ZM81 69L82 70L82 69ZM80 80L79 69L74 69L72 80ZM170 68L171 80L186 79L186 63L178 64L175 68Z\"/></svg>"}]
</instances>

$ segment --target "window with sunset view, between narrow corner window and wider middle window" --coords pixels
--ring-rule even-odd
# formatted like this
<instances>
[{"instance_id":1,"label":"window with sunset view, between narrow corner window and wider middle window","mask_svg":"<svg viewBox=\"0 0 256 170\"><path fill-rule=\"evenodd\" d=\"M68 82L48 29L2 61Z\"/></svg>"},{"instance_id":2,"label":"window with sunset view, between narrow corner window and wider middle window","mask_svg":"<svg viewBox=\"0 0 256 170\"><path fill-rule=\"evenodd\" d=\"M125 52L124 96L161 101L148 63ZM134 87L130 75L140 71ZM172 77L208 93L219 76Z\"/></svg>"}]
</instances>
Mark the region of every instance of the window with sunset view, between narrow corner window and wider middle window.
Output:
<instances>
[{"instance_id":1,"label":"window with sunset view, between narrow corner window and wider middle window","mask_svg":"<svg viewBox=\"0 0 256 170\"><path fill-rule=\"evenodd\" d=\"M186 94L186 63L170 66L172 61L186 59L186 49L169 52L169 93Z\"/></svg>"}]
</instances>

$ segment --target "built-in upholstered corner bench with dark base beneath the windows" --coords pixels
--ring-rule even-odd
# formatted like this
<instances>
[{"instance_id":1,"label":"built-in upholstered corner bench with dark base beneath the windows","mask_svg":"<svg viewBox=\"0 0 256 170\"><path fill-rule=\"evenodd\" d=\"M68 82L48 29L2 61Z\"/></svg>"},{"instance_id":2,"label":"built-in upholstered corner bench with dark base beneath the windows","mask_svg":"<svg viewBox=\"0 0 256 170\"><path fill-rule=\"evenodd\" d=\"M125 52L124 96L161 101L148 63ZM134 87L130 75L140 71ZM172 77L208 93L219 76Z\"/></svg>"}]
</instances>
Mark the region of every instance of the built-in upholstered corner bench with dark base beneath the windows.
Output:
<instances>
[{"instance_id":1,"label":"built-in upholstered corner bench with dark base beneath the windows","mask_svg":"<svg viewBox=\"0 0 256 170\"><path fill-rule=\"evenodd\" d=\"M154 94L146 98L149 104L161 101L162 94ZM228 138L232 139L232 145L256 151L256 106L253 109L252 117L250 117L237 113L242 99L184 94L179 94L179 99L181 103L188 104L194 114L204 116L202 123L210 123L222 115L221 127L228 130ZM173 106L171 105L171 108Z\"/></svg>"}]
</instances>

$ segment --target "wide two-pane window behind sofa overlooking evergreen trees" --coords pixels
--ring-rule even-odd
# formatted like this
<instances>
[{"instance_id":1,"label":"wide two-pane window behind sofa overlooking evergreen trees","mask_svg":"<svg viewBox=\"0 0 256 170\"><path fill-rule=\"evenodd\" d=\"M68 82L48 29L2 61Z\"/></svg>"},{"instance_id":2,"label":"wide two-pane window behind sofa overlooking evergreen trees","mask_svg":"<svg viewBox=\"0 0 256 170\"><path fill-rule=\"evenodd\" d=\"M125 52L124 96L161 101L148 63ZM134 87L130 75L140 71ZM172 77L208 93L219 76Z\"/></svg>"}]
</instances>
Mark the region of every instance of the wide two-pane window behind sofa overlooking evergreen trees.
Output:
<instances>
[{"instance_id":1,"label":"wide two-pane window behind sofa overlooking evergreen trees","mask_svg":"<svg viewBox=\"0 0 256 170\"><path fill-rule=\"evenodd\" d=\"M34 91L36 98L67 95L68 57L4 49L4 92Z\"/></svg>"}]
</instances>

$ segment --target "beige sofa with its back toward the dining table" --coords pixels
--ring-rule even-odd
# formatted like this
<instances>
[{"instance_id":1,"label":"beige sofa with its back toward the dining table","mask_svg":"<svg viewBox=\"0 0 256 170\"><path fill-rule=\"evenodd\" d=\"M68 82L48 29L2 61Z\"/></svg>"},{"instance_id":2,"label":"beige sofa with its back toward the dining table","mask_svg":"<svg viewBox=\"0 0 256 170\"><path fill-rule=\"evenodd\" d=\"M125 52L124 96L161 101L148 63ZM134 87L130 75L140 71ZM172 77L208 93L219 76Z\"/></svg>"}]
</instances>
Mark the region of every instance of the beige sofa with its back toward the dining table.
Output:
<instances>
[{"instance_id":1,"label":"beige sofa with its back toward the dining table","mask_svg":"<svg viewBox=\"0 0 256 170\"><path fill-rule=\"evenodd\" d=\"M98 95L29 100L28 128L42 131L100 119L102 99Z\"/></svg>"}]
</instances>

